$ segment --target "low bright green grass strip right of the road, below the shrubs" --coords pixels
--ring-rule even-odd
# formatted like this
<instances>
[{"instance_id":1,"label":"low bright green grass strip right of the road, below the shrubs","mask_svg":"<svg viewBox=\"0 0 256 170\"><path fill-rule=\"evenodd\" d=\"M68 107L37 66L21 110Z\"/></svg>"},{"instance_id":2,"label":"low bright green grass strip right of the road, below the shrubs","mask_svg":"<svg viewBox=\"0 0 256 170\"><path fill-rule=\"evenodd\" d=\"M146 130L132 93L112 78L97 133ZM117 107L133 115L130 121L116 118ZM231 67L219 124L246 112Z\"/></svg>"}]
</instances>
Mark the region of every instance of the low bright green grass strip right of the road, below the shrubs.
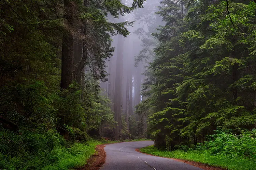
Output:
<instances>
[{"instance_id":1,"label":"low bright green grass strip right of the road, below the shrubs","mask_svg":"<svg viewBox=\"0 0 256 170\"><path fill-rule=\"evenodd\" d=\"M153 146L148 146L140 149L141 152L152 154L156 156L176 158L191 160L195 162L200 162L203 164L208 164L211 166L222 167L231 170L255 170L256 163L253 160L245 158L232 158L225 155L210 155L207 150L189 150L187 152L182 150L175 151L161 151Z\"/></svg>"}]
</instances>

